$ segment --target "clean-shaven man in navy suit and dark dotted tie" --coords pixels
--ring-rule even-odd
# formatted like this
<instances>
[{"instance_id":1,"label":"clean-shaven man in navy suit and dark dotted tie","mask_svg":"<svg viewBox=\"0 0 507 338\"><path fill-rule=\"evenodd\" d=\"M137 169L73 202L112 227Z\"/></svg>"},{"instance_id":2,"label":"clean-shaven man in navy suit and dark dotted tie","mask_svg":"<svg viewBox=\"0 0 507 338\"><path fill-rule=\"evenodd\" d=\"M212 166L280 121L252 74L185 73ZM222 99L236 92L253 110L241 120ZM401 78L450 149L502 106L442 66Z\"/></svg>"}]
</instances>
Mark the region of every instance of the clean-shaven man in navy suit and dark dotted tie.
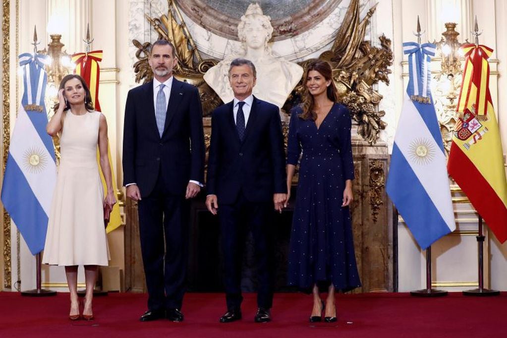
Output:
<instances>
[{"instance_id":1,"label":"clean-shaven man in navy suit and dark dotted tie","mask_svg":"<svg viewBox=\"0 0 507 338\"><path fill-rule=\"evenodd\" d=\"M279 109L252 95L256 69L246 59L229 68L234 100L213 111L206 206L218 212L224 253L227 312L221 322L241 319L241 262L246 234L258 262L256 322L271 320L274 284L274 208L286 198L285 153ZM219 208L220 205L220 208Z\"/></svg>"}]
</instances>

